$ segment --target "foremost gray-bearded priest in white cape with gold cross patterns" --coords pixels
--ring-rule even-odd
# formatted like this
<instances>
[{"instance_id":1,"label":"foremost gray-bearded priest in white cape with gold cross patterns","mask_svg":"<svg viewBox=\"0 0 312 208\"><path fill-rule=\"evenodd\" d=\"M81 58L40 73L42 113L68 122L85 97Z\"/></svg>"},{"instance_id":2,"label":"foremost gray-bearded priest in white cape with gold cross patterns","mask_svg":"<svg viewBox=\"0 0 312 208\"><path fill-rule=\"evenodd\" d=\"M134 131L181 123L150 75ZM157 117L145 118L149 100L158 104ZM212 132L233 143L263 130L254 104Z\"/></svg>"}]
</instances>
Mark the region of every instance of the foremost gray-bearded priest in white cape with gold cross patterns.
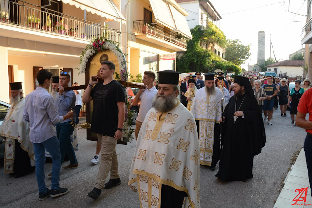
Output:
<instances>
[{"instance_id":1,"label":"foremost gray-bearded priest in white cape with gold cross patterns","mask_svg":"<svg viewBox=\"0 0 312 208\"><path fill-rule=\"evenodd\" d=\"M158 72L158 93L138 135L128 186L141 207L200 207L198 134L179 102L179 74Z\"/></svg>"}]
</instances>

